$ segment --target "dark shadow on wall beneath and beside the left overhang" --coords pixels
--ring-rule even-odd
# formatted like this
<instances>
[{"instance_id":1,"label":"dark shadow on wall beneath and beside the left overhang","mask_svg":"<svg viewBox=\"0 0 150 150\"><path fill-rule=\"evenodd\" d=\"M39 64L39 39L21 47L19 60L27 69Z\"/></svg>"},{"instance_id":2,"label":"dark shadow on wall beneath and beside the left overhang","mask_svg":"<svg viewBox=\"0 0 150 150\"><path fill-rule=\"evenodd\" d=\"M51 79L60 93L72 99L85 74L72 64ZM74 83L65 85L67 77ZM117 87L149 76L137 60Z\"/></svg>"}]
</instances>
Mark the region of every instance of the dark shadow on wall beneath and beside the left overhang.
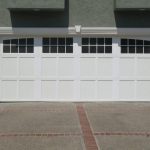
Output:
<instances>
[{"instance_id":1,"label":"dark shadow on wall beneath and beside the left overhang","mask_svg":"<svg viewBox=\"0 0 150 150\"><path fill-rule=\"evenodd\" d=\"M68 27L69 0L65 10L53 11L10 11L12 27Z\"/></svg>"}]
</instances>

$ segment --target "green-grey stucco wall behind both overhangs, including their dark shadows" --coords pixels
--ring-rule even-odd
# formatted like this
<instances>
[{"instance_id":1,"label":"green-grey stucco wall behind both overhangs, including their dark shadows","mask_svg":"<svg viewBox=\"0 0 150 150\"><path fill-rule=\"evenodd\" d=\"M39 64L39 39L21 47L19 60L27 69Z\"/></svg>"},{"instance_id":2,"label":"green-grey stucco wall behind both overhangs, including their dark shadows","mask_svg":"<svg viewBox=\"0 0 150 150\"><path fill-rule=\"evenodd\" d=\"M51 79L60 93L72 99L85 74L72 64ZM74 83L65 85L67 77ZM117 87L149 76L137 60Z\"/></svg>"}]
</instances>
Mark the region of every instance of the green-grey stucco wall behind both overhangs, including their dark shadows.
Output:
<instances>
[{"instance_id":1,"label":"green-grey stucco wall behind both overhangs, including their dark shadows","mask_svg":"<svg viewBox=\"0 0 150 150\"><path fill-rule=\"evenodd\" d=\"M6 0L0 6L0 27L150 27L149 11L114 11L114 0L66 0L58 12L9 12Z\"/></svg>"}]
</instances>

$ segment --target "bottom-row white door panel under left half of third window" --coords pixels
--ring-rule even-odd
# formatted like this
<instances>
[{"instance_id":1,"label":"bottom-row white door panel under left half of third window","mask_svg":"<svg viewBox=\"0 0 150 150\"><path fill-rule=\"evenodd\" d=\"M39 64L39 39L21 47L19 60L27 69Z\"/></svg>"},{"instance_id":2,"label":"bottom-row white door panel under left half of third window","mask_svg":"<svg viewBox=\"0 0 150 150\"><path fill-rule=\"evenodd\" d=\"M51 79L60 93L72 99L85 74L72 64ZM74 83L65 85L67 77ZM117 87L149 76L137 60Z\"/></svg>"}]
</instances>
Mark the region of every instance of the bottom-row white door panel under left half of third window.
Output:
<instances>
[{"instance_id":1,"label":"bottom-row white door panel under left half of third window","mask_svg":"<svg viewBox=\"0 0 150 150\"><path fill-rule=\"evenodd\" d=\"M95 98L95 81L81 81L80 82L80 93L82 100L94 99Z\"/></svg>"}]
</instances>

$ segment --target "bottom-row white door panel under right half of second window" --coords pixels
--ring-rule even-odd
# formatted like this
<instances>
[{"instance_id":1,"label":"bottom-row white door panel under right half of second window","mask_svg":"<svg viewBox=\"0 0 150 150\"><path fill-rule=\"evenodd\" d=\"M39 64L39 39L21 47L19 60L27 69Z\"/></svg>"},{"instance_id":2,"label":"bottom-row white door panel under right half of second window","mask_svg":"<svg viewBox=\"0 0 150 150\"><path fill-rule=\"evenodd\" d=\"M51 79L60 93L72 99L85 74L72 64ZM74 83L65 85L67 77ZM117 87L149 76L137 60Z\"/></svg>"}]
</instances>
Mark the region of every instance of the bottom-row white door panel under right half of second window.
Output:
<instances>
[{"instance_id":1,"label":"bottom-row white door panel under right half of second window","mask_svg":"<svg viewBox=\"0 0 150 150\"><path fill-rule=\"evenodd\" d=\"M59 81L58 83L59 99L72 99L74 97L74 81Z\"/></svg>"}]
</instances>

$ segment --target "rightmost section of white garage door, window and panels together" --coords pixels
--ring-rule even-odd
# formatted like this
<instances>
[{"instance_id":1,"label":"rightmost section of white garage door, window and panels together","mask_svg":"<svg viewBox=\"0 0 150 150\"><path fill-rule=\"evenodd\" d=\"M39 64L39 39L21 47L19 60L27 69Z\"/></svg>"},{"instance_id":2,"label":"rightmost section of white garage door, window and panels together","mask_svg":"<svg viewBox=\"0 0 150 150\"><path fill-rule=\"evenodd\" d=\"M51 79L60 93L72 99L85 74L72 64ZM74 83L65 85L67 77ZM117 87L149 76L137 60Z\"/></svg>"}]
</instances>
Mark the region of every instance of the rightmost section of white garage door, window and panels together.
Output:
<instances>
[{"instance_id":1,"label":"rightmost section of white garage door, window and panels together","mask_svg":"<svg viewBox=\"0 0 150 150\"><path fill-rule=\"evenodd\" d=\"M150 100L150 41L122 39L119 98Z\"/></svg>"}]
</instances>

